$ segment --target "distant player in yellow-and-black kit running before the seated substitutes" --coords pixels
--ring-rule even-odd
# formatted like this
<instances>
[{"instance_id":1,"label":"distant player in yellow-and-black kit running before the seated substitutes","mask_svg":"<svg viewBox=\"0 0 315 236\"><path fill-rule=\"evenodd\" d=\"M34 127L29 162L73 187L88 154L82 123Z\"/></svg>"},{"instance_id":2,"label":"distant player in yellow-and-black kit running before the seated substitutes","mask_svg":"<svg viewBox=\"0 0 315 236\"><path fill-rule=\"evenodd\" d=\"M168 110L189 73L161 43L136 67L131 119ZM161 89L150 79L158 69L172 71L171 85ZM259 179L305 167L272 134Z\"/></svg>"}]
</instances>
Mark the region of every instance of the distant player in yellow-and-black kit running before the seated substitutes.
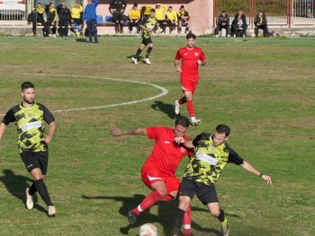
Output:
<instances>
[{"instance_id":1,"label":"distant player in yellow-and-black kit running before the seated substitutes","mask_svg":"<svg viewBox=\"0 0 315 236\"><path fill-rule=\"evenodd\" d=\"M144 62L148 65L151 64L151 62L148 59L148 57L151 54L151 51L153 49L153 42L151 39L151 35L152 35L152 32L154 31L154 29L158 26L157 18L155 17L155 15L156 15L156 10L151 9L149 11L148 19L140 23L140 28L143 30L142 42L141 42L141 45L136 52L136 55L131 58L131 60L133 61L134 64L138 64L139 56L140 56L141 52L144 50L144 48L146 48L147 46L148 46L147 55L146 55L146 58L144 58Z\"/></svg>"}]
</instances>

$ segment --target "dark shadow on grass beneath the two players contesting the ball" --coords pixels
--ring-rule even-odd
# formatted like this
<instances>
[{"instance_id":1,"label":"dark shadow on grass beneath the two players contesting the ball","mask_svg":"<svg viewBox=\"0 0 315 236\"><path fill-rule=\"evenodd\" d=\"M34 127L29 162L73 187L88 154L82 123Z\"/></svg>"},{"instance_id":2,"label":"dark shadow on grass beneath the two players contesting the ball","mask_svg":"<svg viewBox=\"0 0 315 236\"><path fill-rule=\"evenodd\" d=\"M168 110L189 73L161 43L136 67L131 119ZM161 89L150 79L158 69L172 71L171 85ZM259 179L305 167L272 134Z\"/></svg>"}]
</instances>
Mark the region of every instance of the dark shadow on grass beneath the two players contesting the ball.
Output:
<instances>
[{"instance_id":1,"label":"dark shadow on grass beneath the two players contesting the ball","mask_svg":"<svg viewBox=\"0 0 315 236\"><path fill-rule=\"evenodd\" d=\"M121 202L121 208L119 213L123 216L127 216L130 209L134 208L137 204L143 201L144 195L133 195L133 197L89 197L82 195L84 199L109 199L116 202ZM173 201L161 201L157 204L157 215L151 214L149 209L142 212L138 217L138 222L134 225L126 225L121 227L120 231L124 235L128 235L130 229L137 228L144 223L159 223L163 226L164 235L173 235L173 225L175 220L175 209L177 208L178 202ZM208 212L208 210L193 207L193 212ZM127 222L127 219L126 219ZM216 229L203 228L198 223L192 221L192 228L197 232L212 232L215 235L220 235L220 232Z\"/></svg>"}]
</instances>

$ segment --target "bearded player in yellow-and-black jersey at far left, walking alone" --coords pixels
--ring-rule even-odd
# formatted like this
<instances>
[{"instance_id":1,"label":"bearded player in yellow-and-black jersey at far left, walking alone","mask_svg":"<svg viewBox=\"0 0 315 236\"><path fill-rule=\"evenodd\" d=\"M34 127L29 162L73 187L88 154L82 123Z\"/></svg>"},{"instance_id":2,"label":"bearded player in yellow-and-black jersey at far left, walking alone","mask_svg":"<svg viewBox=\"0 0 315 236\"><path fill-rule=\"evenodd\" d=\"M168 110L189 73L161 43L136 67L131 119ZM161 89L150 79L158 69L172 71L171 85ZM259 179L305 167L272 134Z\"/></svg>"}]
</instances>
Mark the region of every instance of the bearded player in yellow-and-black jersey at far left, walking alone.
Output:
<instances>
[{"instance_id":1,"label":"bearded player in yellow-and-black jersey at far left, walking alone","mask_svg":"<svg viewBox=\"0 0 315 236\"><path fill-rule=\"evenodd\" d=\"M9 109L0 125L0 141L4 130L11 122L15 122L18 132L18 149L26 170L33 179L31 188L26 188L26 207L33 208L32 196L39 192L48 206L48 215L54 216L56 208L52 204L44 179L48 168L48 145L55 134L55 118L44 105L35 102L35 87L31 82L22 83L23 101ZM49 133L45 135L43 122L49 124Z\"/></svg>"}]
</instances>

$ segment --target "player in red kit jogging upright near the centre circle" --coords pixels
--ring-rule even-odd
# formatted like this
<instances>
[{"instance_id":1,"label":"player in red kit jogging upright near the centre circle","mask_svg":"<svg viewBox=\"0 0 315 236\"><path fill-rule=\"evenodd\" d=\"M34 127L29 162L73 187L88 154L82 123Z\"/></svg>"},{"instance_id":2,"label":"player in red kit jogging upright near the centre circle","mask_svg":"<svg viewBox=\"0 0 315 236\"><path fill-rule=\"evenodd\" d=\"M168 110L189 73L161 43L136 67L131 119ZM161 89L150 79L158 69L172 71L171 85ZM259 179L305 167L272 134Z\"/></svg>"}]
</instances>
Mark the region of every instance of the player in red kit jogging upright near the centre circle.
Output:
<instances>
[{"instance_id":1,"label":"player in red kit jogging upright near the centre circle","mask_svg":"<svg viewBox=\"0 0 315 236\"><path fill-rule=\"evenodd\" d=\"M194 47L196 36L191 31L187 34L186 39L187 46L177 51L174 60L175 70L181 74L180 80L184 92L184 96L179 101L175 101L175 114L178 115L180 105L187 102L191 123L193 126L197 126L201 119L195 118L194 115L193 93L196 90L199 79L198 66L204 66L206 58L202 48ZM180 59L182 59L182 66L179 66Z\"/></svg>"}]
</instances>

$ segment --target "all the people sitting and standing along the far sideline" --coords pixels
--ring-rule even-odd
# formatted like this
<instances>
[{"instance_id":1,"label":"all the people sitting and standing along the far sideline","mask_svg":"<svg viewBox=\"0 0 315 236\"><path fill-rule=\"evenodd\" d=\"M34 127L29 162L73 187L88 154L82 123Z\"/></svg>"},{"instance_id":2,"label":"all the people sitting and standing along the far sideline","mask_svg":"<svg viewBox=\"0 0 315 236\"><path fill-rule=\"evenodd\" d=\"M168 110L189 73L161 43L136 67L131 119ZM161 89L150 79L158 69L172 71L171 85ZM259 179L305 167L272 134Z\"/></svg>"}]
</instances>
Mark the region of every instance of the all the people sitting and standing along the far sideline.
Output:
<instances>
[{"instance_id":1,"label":"all the people sitting and standing along the far sideline","mask_svg":"<svg viewBox=\"0 0 315 236\"><path fill-rule=\"evenodd\" d=\"M36 35L36 28L38 25L42 26L42 32L44 37L56 38L57 26L58 34L67 38L68 30L76 33L76 37L83 37L84 22L85 36L94 36L97 42L97 15L96 7L99 0L87 0L88 4L85 8L93 8L92 16L86 14L83 6L76 2L75 6L70 10L67 8L67 4L58 4L55 7L54 4L46 4L42 6L40 3L30 13L28 20L32 23L32 32ZM155 9L158 29L155 32L166 33L166 28L169 28L169 32L172 33L177 29L177 33L182 33L182 28L185 27L184 33L187 33L190 28L190 15L181 5L178 10L173 9L172 5L159 4L153 8L151 5L144 4L139 7L138 4L133 4L128 15L125 14L126 10L125 0L111 0L109 3L109 12L111 15L105 17L105 23L112 23L117 34L123 33L124 26L127 26L130 33L139 33L141 31L140 24L148 19L150 9ZM44 17L45 14L45 17ZM89 19L86 19L89 18ZM93 19L90 19L90 18ZM57 23L58 20L58 23ZM260 11L254 20L255 35L258 37L259 30L263 31L264 37L271 36L271 31L268 31L266 15L263 11ZM134 31L134 28L136 29ZM225 30L226 37L245 37L247 34L247 17L241 11L234 15L233 20L230 22L229 15L222 11L217 19L217 27L214 31L216 37L220 36L220 31ZM96 38L95 38L96 37Z\"/></svg>"}]
</instances>

